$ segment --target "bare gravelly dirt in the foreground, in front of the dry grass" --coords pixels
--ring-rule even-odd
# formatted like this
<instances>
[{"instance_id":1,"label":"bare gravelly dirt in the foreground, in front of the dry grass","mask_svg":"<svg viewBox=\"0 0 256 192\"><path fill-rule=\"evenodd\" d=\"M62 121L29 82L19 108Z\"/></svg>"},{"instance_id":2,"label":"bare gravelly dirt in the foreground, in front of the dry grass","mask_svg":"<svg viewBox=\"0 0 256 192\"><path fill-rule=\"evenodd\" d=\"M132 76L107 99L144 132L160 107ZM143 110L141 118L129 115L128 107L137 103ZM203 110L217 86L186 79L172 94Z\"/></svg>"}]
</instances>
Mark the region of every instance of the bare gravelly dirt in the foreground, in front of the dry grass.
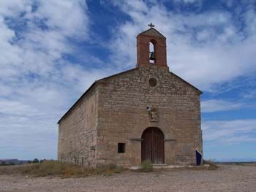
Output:
<instances>
[{"instance_id":1,"label":"bare gravelly dirt in the foreground, in front of the dry grass","mask_svg":"<svg viewBox=\"0 0 256 192\"><path fill-rule=\"evenodd\" d=\"M61 179L0 175L0 191L256 191L256 166L221 165L217 170L172 169L150 173Z\"/></svg>"}]
</instances>

